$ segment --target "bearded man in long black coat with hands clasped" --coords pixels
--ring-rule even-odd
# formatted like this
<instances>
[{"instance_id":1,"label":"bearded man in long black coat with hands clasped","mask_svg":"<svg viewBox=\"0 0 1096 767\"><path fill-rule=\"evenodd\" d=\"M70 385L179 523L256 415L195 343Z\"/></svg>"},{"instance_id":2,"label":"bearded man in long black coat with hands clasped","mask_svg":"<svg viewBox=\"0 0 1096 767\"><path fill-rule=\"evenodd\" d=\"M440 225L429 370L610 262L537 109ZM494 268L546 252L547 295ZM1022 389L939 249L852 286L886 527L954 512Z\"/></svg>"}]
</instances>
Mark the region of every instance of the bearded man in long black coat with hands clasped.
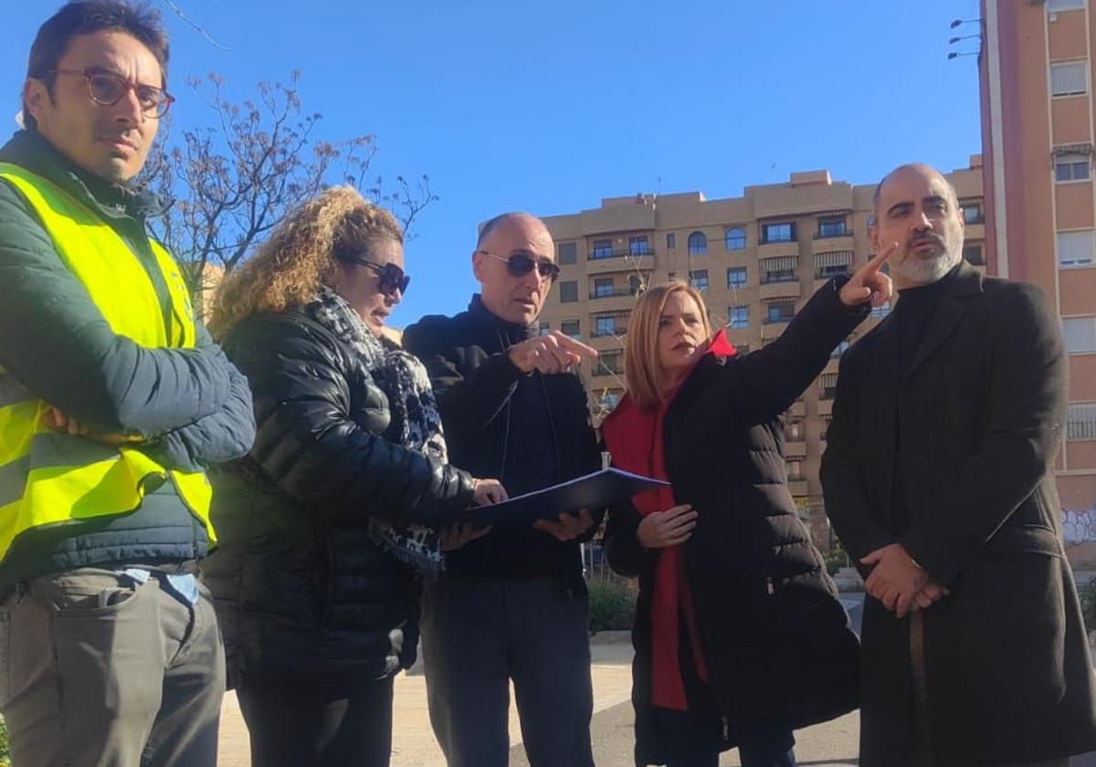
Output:
<instances>
[{"instance_id":1,"label":"bearded man in long black coat with hands clasped","mask_svg":"<svg viewBox=\"0 0 1096 767\"><path fill-rule=\"evenodd\" d=\"M842 359L822 461L868 574L860 764L1065 765L1096 748L1096 695L1053 478L1058 319L1038 288L963 263L932 168L883 179L870 236L899 243L899 300Z\"/></svg>"}]
</instances>

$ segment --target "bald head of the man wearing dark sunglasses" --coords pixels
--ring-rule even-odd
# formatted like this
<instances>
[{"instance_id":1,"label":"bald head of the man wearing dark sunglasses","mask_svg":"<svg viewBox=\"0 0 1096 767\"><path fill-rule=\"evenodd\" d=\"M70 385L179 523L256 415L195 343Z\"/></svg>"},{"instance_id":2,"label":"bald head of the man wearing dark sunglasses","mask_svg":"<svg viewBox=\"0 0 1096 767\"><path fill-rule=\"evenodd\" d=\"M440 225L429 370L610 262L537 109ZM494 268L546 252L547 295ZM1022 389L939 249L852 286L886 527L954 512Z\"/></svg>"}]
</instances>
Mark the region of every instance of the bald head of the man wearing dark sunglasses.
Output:
<instances>
[{"instance_id":1,"label":"bald head of the man wearing dark sunglasses","mask_svg":"<svg viewBox=\"0 0 1096 767\"><path fill-rule=\"evenodd\" d=\"M527 213L495 216L480 227L472 253L472 272L488 311L507 322L529 323L540 313L552 279L536 266L515 273L512 256L518 256L518 265L555 263L556 245L544 221Z\"/></svg>"}]
</instances>

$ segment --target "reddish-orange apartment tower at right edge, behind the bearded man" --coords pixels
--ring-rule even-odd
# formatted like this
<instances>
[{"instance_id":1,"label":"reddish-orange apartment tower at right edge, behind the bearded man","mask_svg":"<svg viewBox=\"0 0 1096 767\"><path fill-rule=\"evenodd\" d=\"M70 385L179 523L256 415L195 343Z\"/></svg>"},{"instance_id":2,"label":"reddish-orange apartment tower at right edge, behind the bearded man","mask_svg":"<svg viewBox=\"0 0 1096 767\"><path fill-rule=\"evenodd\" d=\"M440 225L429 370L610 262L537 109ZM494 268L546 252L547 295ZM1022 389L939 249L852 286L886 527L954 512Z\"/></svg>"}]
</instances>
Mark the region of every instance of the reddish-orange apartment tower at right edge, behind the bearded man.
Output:
<instances>
[{"instance_id":1,"label":"reddish-orange apartment tower at right edge, behind the bearded man","mask_svg":"<svg viewBox=\"0 0 1096 767\"><path fill-rule=\"evenodd\" d=\"M970 23L983 35L986 266L1041 287L1062 318L1070 404L1058 490L1066 537L1072 515L1096 538L1096 19L1085 0L983 0ZM1088 548L1071 558L1096 562L1096 545Z\"/></svg>"}]
</instances>

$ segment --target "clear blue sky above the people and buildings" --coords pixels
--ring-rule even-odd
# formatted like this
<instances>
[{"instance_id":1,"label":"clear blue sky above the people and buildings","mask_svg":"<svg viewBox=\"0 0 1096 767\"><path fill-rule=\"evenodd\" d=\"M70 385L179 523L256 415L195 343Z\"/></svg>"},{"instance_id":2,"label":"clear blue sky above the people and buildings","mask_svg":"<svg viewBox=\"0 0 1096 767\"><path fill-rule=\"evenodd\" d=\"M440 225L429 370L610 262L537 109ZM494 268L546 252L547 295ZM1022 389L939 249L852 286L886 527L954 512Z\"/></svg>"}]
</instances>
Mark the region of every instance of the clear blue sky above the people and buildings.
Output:
<instances>
[{"instance_id":1,"label":"clear blue sky above the people and buildings","mask_svg":"<svg viewBox=\"0 0 1096 767\"><path fill-rule=\"evenodd\" d=\"M158 4L160 0L155 0ZM980 151L977 39L949 46L978 0L175 0L163 4L179 126L204 124L186 76L228 94L302 75L319 135L376 134L374 171L427 173L439 203L408 244L392 317L453 313L475 289L476 224L502 210L574 213L602 197L700 190L710 198L826 168L876 181ZM26 55L59 0L5 3L0 128L14 129Z\"/></svg>"}]
</instances>

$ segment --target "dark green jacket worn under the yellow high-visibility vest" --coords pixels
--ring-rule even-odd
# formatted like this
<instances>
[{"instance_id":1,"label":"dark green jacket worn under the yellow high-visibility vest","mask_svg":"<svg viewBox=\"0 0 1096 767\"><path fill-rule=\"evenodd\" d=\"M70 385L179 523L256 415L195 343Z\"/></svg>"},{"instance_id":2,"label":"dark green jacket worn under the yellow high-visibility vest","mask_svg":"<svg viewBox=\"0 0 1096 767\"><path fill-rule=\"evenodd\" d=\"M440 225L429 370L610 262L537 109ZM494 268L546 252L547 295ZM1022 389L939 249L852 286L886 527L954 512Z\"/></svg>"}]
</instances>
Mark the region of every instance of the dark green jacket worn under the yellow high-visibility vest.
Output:
<instances>
[{"instance_id":1,"label":"dark green jacket worn under the yellow high-visibility vest","mask_svg":"<svg viewBox=\"0 0 1096 767\"><path fill-rule=\"evenodd\" d=\"M90 174L34 133L0 148L0 162L37 173L85 202L145 264L169 308L146 218L165 206L147 192ZM115 335L61 263L23 196L0 181L0 366L35 394L100 433L137 435L151 456L195 471L248 451L254 416L247 379L204 328L194 350L144 348ZM3 466L0 466L0 471ZM130 514L33 529L0 562L0 595L47 572L163 564L205 556L205 529L171 484Z\"/></svg>"}]
</instances>

